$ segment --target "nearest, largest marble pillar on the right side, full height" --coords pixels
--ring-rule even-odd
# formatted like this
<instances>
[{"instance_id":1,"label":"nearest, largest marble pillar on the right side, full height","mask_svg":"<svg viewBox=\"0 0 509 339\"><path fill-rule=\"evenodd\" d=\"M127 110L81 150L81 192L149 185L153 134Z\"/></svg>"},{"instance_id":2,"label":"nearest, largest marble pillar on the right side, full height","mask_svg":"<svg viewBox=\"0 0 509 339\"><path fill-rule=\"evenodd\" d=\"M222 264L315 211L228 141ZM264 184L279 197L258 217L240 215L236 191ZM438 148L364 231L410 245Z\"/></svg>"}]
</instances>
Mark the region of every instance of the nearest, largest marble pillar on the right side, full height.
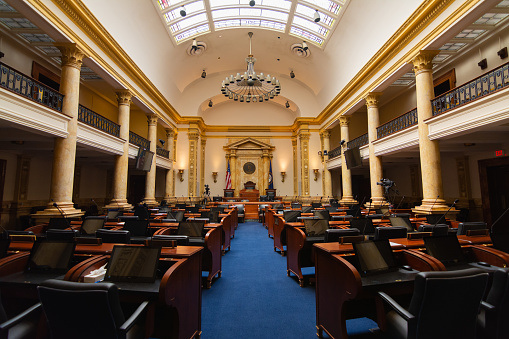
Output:
<instances>
[{"instance_id":1,"label":"nearest, largest marble pillar on the right side, full height","mask_svg":"<svg viewBox=\"0 0 509 339\"><path fill-rule=\"evenodd\" d=\"M433 116L431 99L434 97L432 60L438 51L420 51L412 60L415 73L417 119L419 129L419 155L422 175L422 204L416 212L433 213L447 209L442 188L440 148L437 140L428 138L426 119ZM440 213L440 212L439 212Z\"/></svg>"}]
</instances>

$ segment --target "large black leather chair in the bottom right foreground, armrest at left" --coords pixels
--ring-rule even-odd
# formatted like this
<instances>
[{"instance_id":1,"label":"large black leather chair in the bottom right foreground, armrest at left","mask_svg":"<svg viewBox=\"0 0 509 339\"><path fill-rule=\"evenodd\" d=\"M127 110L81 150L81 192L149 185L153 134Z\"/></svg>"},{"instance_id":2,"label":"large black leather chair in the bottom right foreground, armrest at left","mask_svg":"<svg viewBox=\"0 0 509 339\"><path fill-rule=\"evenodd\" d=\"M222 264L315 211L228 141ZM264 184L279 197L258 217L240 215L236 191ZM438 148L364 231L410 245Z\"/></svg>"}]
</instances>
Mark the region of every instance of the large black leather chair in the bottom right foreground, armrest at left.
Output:
<instances>
[{"instance_id":1,"label":"large black leather chair in the bottom right foreground, armrest at left","mask_svg":"<svg viewBox=\"0 0 509 339\"><path fill-rule=\"evenodd\" d=\"M378 292L393 309L386 315L389 338L475 339L487 284L488 273L477 268L421 272L408 308Z\"/></svg>"}]
</instances>

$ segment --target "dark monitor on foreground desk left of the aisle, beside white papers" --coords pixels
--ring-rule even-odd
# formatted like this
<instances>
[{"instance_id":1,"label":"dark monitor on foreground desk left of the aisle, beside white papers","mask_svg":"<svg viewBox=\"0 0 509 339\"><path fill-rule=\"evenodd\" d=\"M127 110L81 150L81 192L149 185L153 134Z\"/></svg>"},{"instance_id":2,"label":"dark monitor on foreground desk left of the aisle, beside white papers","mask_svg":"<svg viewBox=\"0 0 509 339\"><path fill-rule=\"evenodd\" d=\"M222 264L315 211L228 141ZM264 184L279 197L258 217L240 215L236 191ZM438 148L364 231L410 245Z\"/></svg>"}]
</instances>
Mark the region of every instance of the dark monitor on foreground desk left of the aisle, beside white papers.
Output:
<instances>
[{"instance_id":1,"label":"dark monitor on foreground desk left of the aisle, beside white papers","mask_svg":"<svg viewBox=\"0 0 509 339\"><path fill-rule=\"evenodd\" d=\"M114 246L104 280L154 282L161 247Z\"/></svg>"}]
</instances>

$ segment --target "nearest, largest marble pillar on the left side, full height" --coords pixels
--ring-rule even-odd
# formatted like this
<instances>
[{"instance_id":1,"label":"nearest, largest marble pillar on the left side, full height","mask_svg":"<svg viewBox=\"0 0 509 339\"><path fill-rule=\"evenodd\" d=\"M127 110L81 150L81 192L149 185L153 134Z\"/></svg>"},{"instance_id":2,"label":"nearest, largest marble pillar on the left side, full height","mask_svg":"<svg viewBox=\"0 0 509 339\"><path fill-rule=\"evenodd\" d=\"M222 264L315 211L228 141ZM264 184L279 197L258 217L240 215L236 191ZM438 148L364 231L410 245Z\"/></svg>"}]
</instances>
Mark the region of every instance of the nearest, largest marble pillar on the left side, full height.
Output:
<instances>
[{"instance_id":1,"label":"nearest, largest marble pillar on the left side, full height","mask_svg":"<svg viewBox=\"0 0 509 339\"><path fill-rule=\"evenodd\" d=\"M84 213L73 206L72 192L74 182L74 165L76 161L76 140L78 131L78 105L80 90L80 71L84 53L76 44L55 44L62 53L62 74L60 92L64 95L62 113L71 117L67 125L67 137L55 138L53 152L53 169L48 207L34 215L35 218L59 217L60 212L54 203L67 217L77 217Z\"/></svg>"}]
</instances>

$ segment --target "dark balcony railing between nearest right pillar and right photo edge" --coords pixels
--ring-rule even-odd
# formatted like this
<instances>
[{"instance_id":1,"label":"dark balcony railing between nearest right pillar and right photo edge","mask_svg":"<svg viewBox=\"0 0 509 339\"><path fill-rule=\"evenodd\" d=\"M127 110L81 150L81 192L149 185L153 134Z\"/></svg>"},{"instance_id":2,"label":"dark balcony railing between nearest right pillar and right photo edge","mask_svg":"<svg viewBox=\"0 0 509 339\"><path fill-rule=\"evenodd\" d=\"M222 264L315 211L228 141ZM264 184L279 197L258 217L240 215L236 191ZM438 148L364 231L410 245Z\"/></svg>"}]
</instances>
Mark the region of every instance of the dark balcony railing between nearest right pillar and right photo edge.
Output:
<instances>
[{"instance_id":1,"label":"dark balcony railing between nearest right pillar and right photo edge","mask_svg":"<svg viewBox=\"0 0 509 339\"><path fill-rule=\"evenodd\" d=\"M447 112L509 86L509 63L431 100L433 115Z\"/></svg>"}]
</instances>

